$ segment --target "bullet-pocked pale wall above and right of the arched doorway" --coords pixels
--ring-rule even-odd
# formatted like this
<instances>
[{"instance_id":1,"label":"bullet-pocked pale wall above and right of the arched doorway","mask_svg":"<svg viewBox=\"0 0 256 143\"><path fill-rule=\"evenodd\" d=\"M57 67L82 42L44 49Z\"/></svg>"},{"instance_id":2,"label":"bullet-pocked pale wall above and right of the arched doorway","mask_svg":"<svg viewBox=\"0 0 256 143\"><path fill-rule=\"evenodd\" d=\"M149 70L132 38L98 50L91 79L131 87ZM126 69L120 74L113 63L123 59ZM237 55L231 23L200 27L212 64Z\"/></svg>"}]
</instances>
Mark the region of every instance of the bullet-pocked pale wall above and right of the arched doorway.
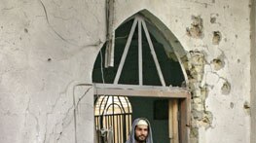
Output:
<instances>
[{"instance_id":1,"label":"bullet-pocked pale wall above and right of the arched doorway","mask_svg":"<svg viewBox=\"0 0 256 143\"><path fill-rule=\"evenodd\" d=\"M187 53L193 96L191 142L250 142L246 106L250 103L250 65L246 64L250 62L250 1L151 0L136 7L132 4L117 2L116 24L130 12L147 9L165 23ZM132 6L129 12L122 12L127 6Z\"/></svg>"}]
</instances>

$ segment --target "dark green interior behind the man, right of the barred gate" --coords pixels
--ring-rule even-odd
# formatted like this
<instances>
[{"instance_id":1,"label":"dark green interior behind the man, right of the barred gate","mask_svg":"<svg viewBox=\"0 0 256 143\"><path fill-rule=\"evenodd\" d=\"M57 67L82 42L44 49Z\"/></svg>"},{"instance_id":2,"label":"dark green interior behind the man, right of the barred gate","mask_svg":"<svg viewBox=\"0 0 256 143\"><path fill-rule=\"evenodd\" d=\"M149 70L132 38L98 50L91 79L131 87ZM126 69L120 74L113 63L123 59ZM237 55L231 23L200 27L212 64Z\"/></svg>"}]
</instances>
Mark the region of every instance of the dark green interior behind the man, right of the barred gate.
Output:
<instances>
[{"instance_id":1,"label":"dark green interior behind the man, right of the barred gate","mask_svg":"<svg viewBox=\"0 0 256 143\"><path fill-rule=\"evenodd\" d=\"M155 143L169 143L168 99L158 97L128 97L133 111L132 121L136 118L149 120Z\"/></svg>"}]
</instances>

